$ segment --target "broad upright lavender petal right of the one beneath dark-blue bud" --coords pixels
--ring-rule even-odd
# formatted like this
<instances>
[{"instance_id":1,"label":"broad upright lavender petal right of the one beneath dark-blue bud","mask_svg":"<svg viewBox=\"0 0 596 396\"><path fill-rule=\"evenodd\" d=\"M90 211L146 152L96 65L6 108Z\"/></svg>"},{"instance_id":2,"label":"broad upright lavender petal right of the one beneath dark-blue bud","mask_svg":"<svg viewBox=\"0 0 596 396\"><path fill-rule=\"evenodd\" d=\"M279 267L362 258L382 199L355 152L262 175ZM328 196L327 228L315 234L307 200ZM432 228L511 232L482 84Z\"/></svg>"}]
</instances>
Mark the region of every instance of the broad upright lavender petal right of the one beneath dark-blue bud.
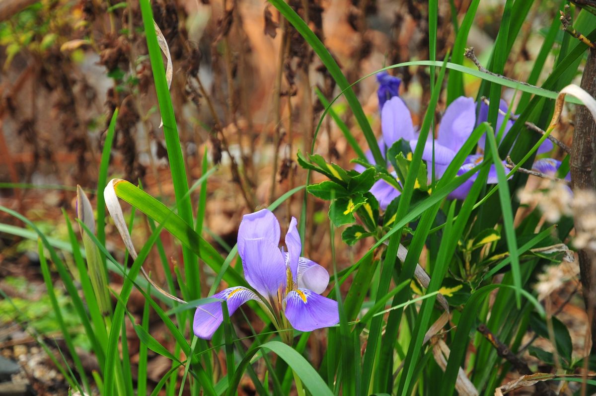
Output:
<instances>
[{"instance_id":1,"label":"broad upright lavender petal right of the one beneath dark-blue bud","mask_svg":"<svg viewBox=\"0 0 596 396\"><path fill-rule=\"evenodd\" d=\"M441 146L459 151L470 137L476 123L476 106L473 98L460 96L445 110L439 125L437 141Z\"/></svg>"}]
</instances>

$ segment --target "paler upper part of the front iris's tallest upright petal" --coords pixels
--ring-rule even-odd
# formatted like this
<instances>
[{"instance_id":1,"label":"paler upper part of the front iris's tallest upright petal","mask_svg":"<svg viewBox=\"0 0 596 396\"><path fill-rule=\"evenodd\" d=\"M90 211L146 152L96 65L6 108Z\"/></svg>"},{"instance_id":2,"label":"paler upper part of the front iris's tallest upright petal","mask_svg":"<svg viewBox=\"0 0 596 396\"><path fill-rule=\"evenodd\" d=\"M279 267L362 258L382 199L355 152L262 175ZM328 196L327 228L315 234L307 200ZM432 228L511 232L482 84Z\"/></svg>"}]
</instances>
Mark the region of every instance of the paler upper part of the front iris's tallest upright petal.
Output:
<instances>
[{"instance_id":1,"label":"paler upper part of the front iris's tallest upright petal","mask_svg":"<svg viewBox=\"0 0 596 396\"><path fill-rule=\"evenodd\" d=\"M280 223L269 209L244 215L238 228L238 253L244 259L244 241L265 238L278 246L280 243Z\"/></svg>"}]
</instances>

